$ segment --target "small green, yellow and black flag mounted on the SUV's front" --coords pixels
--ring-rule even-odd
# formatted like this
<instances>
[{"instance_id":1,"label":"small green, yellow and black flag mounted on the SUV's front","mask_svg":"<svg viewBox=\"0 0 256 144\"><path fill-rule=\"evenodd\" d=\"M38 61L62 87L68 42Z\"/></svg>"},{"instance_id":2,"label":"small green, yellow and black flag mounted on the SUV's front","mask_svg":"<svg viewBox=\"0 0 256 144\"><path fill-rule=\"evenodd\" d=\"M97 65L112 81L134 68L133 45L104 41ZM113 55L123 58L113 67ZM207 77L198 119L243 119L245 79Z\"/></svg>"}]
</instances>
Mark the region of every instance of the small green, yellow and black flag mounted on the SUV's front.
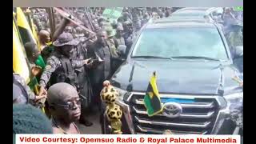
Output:
<instances>
[{"instance_id":1,"label":"small green, yellow and black flag mounted on the SUV's front","mask_svg":"<svg viewBox=\"0 0 256 144\"><path fill-rule=\"evenodd\" d=\"M147 86L146 95L144 96L144 105L147 114L151 117L162 112L162 103L158 93L156 73L150 78Z\"/></svg>"}]
</instances>

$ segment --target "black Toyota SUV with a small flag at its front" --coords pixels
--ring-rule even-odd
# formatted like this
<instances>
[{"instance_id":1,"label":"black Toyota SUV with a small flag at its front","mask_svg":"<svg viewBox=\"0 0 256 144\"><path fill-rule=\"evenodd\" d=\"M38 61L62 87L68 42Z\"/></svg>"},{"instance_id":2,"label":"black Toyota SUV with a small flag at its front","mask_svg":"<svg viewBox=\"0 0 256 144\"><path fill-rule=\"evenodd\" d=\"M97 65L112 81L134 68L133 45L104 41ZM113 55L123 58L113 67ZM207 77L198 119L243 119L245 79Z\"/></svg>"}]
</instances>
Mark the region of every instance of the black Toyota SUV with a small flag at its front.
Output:
<instances>
[{"instance_id":1,"label":"black Toyota SUV with a small flag at its front","mask_svg":"<svg viewBox=\"0 0 256 144\"><path fill-rule=\"evenodd\" d=\"M147 23L110 79L120 93L123 134L242 134L243 88L233 59L241 53L231 57L220 27L204 19ZM154 71L165 107L149 117L143 97ZM110 133L106 116L102 128Z\"/></svg>"}]
</instances>

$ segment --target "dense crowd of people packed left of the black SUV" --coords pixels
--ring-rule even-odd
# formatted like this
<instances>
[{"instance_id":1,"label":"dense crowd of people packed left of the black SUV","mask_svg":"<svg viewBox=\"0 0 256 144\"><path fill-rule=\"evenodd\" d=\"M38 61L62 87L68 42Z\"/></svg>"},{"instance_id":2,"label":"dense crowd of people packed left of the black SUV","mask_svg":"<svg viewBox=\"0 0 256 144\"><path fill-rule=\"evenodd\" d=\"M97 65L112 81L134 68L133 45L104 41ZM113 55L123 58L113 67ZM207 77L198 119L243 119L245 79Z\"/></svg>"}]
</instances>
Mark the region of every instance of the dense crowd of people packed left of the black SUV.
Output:
<instances>
[{"instance_id":1,"label":"dense crowd of people packed left of the black SUV","mask_svg":"<svg viewBox=\"0 0 256 144\"><path fill-rule=\"evenodd\" d=\"M55 11L54 33L50 31L46 10L31 9L40 45L33 42L25 44L33 78L27 86L24 79L13 74L13 103L30 103L38 107L40 102L53 126L53 130L47 132L79 134L74 122L93 125L87 120L86 114L101 109L102 83L114 74L126 58L138 31L151 18L170 17L177 9L124 7L122 16L110 21L102 16L105 8L62 8L70 14L69 18L78 18L87 30ZM228 14L224 12L224 20L230 18ZM33 87L34 83L38 83L38 86ZM35 90L38 90L36 94ZM19 123L16 124L18 126ZM25 130L22 132L27 133Z\"/></svg>"}]
</instances>

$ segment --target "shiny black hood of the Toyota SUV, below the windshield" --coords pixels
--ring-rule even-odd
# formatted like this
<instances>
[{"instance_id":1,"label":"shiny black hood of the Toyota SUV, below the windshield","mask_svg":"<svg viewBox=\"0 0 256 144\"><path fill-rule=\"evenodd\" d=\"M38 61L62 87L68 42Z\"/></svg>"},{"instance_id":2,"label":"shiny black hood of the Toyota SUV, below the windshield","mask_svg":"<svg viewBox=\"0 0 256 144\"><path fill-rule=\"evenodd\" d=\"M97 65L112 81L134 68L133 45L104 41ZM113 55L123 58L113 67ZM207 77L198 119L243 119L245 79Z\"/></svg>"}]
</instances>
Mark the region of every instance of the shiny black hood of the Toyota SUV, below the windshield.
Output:
<instances>
[{"instance_id":1,"label":"shiny black hood of the Toyota SUV, below the windshield","mask_svg":"<svg viewBox=\"0 0 256 144\"><path fill-rule=\"evenodd\" d=\"M154 71L159 93L219 94L219 90L239 89L232 79L238 72L230 64L194 60L130 60L119 67L110 82L122 90L145 92Z\"/></svg>"}]
</instances>

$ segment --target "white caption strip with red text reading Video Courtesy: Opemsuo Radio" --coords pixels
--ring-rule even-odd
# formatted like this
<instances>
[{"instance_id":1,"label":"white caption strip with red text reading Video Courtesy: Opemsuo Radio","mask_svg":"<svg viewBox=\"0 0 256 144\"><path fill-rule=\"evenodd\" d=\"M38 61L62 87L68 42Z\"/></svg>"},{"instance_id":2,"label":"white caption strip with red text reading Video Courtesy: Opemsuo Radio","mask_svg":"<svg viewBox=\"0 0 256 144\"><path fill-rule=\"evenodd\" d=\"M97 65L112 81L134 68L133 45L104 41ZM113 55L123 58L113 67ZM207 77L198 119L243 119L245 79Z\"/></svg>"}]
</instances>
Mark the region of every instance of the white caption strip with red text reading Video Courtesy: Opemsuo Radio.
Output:
<instances>
[{"instance_id":1,"label":"white caption strip with red text reading Video Courtesy: Opemsuo Radio","mask_svg":"<svg viewBox=\"0 0 256 144\"><path fill-rule=\"evenodd\" d=\"M16 134L16 144L240 144L239 135Z\"/></svg>"}]
</instances>

